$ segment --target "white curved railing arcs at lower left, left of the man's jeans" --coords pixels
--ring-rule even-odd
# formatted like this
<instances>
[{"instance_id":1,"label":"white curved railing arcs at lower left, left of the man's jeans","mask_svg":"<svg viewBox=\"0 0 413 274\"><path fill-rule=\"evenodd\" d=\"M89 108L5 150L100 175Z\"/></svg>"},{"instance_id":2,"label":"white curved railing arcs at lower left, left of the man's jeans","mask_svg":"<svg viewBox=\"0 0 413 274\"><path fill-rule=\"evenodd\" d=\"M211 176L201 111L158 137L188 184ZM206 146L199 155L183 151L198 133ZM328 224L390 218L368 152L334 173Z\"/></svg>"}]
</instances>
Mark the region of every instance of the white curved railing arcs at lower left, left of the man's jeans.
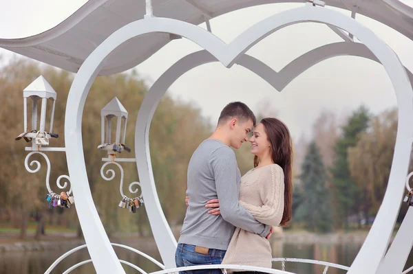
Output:
<instances>
[{"instance_id":1,"label":"white curved railing arcs at lower left, left of the man's jeans","mask_svg":"<svg viewBox=\"0 0 413 274\"><path fill-rule=\"evenodd\" d=\"M158 262L157 260L153 259L151 256L147 255L146 253L143 253L142 251L139 251L138 249L134 249L133 247L128 247L127 245L124 244L116 244L116 243L111 243L112 246L114 247L121 247L123 249L128 249L130 251L133 251L134 253L137 253L139 255L141 255L144 258L147 258L148 260L150 260L151 262L153 262L154 264L156 264L157 266L159 266L161 269L165 269L165 266L163 264L161 264L160 262ZM45 274L50 274L50 272L52 272L52 270L54 269L54 267L59 264L59 262L61 262L63 259L65 259L68 255L84 249L85 247L87 247L87 244L83 244L79 247L75 247L74 249L71 249L70 251L67 251L66 253L64 253L63 255L61 255L59 258L57 258L57 260L55 260L53 262L53 264L51 266L49 266L49 268L45 271ZM64 273L70 273L70 271L78 268L78 266L82 266L83 264L87 264L89 262L92 262L92 260L85 260L83 262L79 262L78 264L75 264L74 266L70 267L70 269L67 269ZM140 271L140 273L142 274L147 274L145 271L142 272L142 269L140 269L138 266L135 266L134 264L131 264L129 262L124 262L122 260L119 260L119 262L123 263L123 264L127 264L131 267L134 267L134 269Z\"/></svg>"}]
</instances>

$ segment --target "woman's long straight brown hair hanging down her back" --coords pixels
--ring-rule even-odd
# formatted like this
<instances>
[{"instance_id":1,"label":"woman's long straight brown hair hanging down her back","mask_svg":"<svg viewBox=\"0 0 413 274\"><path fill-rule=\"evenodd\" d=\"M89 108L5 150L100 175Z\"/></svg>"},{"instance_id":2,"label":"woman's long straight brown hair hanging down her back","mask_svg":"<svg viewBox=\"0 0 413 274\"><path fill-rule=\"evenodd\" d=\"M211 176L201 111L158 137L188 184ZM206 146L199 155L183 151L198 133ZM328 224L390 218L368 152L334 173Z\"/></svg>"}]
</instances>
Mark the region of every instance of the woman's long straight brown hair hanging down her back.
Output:
<instances>
[{"instance_id":1,"label":"woman's long straight brown hair hanging down her back","mask_svg":"<svg viewBox=\"0 0 413 274\"><path fill-rule=\"evenodd\" d=\"M260 121L264 126L268 141L271 144L271 159L277 163L284 171L284 213L280 225L287 227L291 220L293 207L293 183L292 183L292 166L293 166L293 145L290 137L290 131L287 126L275 118L264 118ZM256 168L260 159L254 157L254 167Z\"/></svg>"}]
</instances>

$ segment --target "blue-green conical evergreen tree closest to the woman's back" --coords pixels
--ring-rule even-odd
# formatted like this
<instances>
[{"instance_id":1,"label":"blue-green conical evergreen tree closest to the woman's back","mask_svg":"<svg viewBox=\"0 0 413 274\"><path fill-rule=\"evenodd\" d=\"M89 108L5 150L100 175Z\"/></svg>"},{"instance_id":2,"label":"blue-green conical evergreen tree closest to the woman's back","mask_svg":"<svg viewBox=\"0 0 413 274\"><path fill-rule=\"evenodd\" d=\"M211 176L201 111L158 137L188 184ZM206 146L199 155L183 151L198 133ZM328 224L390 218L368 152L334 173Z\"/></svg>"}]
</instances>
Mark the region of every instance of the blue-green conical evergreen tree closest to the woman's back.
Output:
<instances>
[{"instance_id":1,"label":"blue-green conical evergreen tree closest to the woman's back","mask_svg":"<svg viewBox=\"0 0 413 274\"><path fill-rule=\"evenodd\" d=\"M311 231L330 231L332 226L326 169L315 141L308 146L299 178L304 192L297 209L297 218L303 220L306 228Z\"/></svg>"}]
</instances>

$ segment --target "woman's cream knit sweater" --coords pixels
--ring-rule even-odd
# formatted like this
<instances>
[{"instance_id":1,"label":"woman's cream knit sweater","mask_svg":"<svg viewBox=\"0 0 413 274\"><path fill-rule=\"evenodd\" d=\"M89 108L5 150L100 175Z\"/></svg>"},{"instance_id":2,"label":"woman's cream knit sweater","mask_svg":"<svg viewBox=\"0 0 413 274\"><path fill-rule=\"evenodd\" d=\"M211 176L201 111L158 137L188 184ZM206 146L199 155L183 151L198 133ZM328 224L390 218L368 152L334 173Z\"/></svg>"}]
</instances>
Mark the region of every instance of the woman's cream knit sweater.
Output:
<instances>
[{"instance_id":1,"label":"woman's cream knit sweater","mask_svg":"<svg viewBox=\"0 0 413 274\"><path fill-rule=\"evenodd\" d=\"M241 179L240 205L266 225L278 226L284 213L284 172L277 164L246 172ZM222 264L271 268L271 246L266 238L237 227ZM241 271L230 270L227 271Z\"/></svg>"}]
</instances>

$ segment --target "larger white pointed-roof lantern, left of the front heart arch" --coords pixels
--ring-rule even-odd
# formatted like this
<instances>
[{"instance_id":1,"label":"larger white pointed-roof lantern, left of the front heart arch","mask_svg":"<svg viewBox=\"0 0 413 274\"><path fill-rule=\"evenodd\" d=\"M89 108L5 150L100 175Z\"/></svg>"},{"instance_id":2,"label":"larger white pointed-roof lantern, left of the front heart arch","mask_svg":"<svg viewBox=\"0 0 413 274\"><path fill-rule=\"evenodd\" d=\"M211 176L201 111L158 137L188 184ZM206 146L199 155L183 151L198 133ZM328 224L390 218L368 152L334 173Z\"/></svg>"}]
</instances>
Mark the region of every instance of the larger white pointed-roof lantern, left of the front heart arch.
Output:
<instances>
[{"instance_id":1,"label":"larger white pointed-roof lantern, left of the front heart arch","mask_svg":"<svg viewBox=\"0 0 413 274\"><path fill-rule=\"evenodd\" d=\"M24 138L26 141L34 139L34 144L37 146L47 146L49 138L57 138L53 131L54 108L56 106L57 93L52 86L43 78L39 76L31 84L23 89L23 115L24 115L24 131L16 139ZM28 98L32 100L32 125L31 130L28 129ZM38 101L41 100L40 121L38 123ZM50 130L45 131L46 124L46 107L47 100L52 100L52 114L50 117ZM39 124L39 126L38 126Z\"/></svg>"}]
</instances>

